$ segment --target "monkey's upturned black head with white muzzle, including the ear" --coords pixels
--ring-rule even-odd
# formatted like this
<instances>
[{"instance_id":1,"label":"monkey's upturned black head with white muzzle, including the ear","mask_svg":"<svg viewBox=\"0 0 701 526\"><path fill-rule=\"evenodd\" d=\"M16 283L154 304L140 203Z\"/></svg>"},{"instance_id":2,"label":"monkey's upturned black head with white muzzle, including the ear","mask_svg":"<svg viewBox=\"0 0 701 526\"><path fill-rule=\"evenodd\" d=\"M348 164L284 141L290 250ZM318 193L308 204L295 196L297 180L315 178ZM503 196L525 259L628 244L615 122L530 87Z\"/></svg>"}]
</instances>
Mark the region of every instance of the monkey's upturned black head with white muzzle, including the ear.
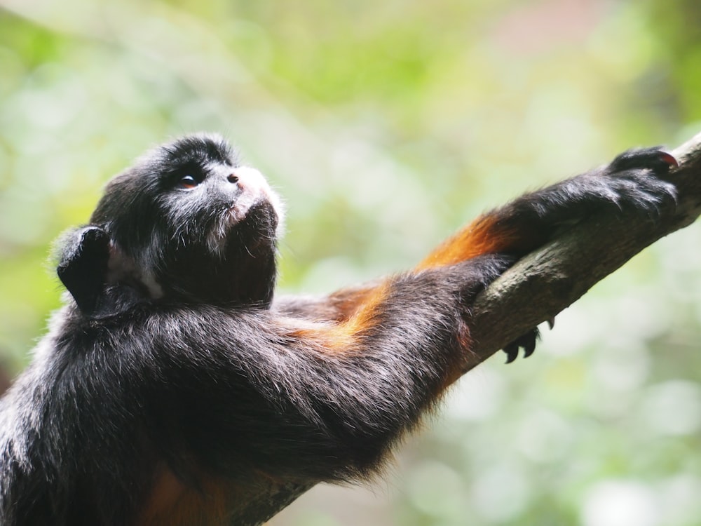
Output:
<instances>
[{"instance_id":1,"label":"monkey's upturned black head with white muzzle, including the ear","mask_svg":"<svg viewBox=\"0 0 701 526\"><path fill-rule=\"evenodd\" d=\"M144 302L267 306L282 206L217 135L149 151L107 184L58 274L88 317Z\"/></svg>"}]
</instances>

